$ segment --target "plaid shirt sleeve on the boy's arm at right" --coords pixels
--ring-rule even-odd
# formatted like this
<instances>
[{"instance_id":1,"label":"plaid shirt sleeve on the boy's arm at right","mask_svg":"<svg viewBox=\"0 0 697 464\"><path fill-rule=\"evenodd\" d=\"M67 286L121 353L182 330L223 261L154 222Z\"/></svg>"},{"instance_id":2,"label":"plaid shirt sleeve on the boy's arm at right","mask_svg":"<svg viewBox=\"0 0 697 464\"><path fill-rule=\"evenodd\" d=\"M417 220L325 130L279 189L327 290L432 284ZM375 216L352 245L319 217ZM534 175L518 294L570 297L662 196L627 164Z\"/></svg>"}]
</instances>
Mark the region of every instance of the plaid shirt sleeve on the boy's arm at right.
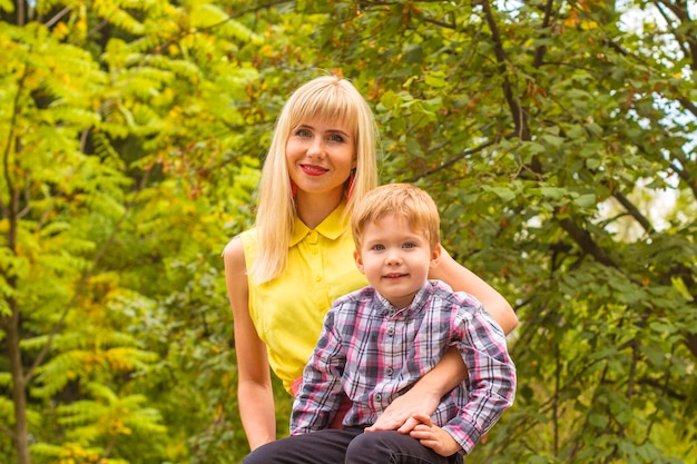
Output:
<instances>
[{"instance_id":1,"label":"plaid shirt sleeve on the boy's arm at right","mask_svg":"<svg viewBox=\"0 0 697 464\"><path fill-rule=\"evenodd\" d=\"M512 406L517 383L503 330L479 302L473 302L473 306L468 304L458 310L454 325L469 373L469 398L458 405L458 415L443 426L465 454Z\"/></svg>"}]
</instances>

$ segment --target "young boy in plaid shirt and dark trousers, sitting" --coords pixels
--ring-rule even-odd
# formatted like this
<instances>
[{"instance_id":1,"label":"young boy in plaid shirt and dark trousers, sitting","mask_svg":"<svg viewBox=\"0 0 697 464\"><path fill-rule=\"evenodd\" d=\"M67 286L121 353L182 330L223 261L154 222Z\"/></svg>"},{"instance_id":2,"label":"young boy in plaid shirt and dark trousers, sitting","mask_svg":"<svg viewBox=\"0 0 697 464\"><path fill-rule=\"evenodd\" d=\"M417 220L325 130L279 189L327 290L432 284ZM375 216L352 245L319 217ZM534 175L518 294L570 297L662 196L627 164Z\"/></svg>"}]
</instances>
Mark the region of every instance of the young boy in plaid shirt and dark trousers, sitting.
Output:
<instances>
[{"instance_id":1,"label":"young boy in plaid shirt and dark trousers, sitting","mask_svg":"<svg viewBox=\"0 0 697 464\"><path fill-rule=\"evenodd\" d=\"M513 403L516 367L501 328L472 296L429 269L441 254L431 197L405 184L372 190L351 218L355 261L370 286L334 302L293 404L291 435L256 463L455 463ZM457 346L469 378L411 433L366 432L390 402ZM344 396L342 430L330 430Z\"/></svg>"}]
</instances>

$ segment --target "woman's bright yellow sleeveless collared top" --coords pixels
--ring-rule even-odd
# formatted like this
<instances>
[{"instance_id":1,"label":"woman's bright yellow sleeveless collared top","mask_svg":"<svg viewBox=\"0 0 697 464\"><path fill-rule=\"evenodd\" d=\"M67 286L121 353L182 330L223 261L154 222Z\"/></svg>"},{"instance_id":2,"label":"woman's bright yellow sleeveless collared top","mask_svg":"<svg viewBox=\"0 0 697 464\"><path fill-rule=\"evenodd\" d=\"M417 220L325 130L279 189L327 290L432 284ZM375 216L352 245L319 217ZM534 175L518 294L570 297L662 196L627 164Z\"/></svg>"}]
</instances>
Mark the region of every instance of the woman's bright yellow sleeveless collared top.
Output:
<instances>
[{"instance_id":1,"label":"woman's bright yellow sleeveless collared top","mask_svg":"<svg viewBox=\"0 0 697 464\"><path fill-rule=\"evenodd\" d=\"M266 344L271 368L288 393L303 375L334 299L367 285L353 258L344 207L342 203L314 230L295 218L286 269L266 284L248 279L252 320ZM249 268L257 253L255 229L243 233L242 243Z\"/></svg>"}]
</instances>

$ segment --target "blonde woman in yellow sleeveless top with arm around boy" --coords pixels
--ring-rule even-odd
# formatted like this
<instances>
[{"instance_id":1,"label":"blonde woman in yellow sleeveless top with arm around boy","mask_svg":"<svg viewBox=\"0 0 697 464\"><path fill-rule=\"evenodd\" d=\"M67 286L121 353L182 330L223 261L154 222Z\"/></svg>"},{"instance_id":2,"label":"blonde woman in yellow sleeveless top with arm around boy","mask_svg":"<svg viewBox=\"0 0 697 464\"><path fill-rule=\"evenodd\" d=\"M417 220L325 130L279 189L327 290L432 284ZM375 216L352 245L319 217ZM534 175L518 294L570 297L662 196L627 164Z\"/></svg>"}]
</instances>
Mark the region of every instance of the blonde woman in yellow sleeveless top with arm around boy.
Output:
<instances>
[{"instance_id":1,"label":"blonde woman in yellow sleeveless top with arm around boy","mask_svg":"<svg viewBox=\"0 0 697 464\"><path fill-rule=\"evenodd\" d=\"M354 264L348 219L376 187L376 128L353 85L324 76L285 103L262 171L255 227L225 247L235 324L238 401L249 448L276 440L271 372L294 394L337 297L367 282ZM518 324L505 299L442 253L429 278L475 296L505 333ZM271 369L269 369L271 368ZM409 433L467 376L455 351L371 427Z\"/></svg>"}]
</instances>

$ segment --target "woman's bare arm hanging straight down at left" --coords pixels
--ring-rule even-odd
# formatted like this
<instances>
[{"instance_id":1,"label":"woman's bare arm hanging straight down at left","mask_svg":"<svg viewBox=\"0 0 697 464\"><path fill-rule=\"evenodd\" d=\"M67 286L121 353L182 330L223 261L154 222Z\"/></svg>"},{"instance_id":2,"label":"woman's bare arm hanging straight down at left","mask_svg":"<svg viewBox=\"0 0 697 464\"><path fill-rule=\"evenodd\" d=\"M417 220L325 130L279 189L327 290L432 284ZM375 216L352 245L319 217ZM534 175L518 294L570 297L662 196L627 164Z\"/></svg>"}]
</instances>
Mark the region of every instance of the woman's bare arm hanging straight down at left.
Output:
<instances>
[{"instance_id":1,"label":"woman's bare arm hanging straight down at left","mask_svg":"<svg viewBox=\"0 0 697 464\"><path fill-rule=\"evenodd\" d=\"M266 346L249 316L249 288L242 239L233 239L223 251L225 283L233 308L237 353L237 398L242 425L254 450L276 440L276 412Z\"/></svg>"}]
</instances>

